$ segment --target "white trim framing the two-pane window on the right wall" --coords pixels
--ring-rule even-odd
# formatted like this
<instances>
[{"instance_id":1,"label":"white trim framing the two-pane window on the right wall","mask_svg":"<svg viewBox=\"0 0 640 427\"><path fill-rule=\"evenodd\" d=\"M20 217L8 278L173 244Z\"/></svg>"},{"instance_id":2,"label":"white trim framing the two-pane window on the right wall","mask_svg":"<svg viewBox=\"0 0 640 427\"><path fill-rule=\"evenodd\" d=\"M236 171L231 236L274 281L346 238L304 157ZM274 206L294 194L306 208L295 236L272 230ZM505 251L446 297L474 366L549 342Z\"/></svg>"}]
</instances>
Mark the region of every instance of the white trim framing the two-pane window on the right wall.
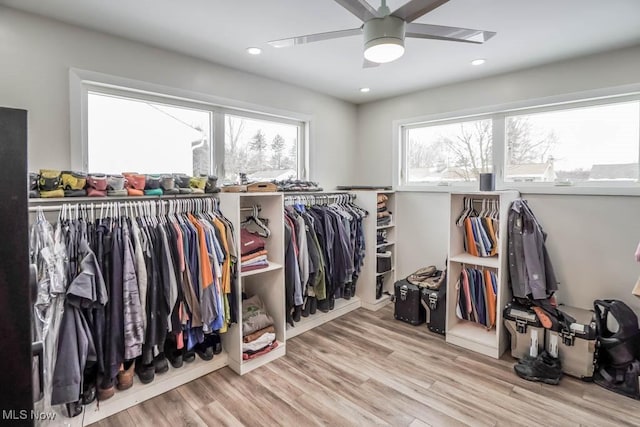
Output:
<instances>
[{"instance_id":1,"label":"white trim framing the two-pane window on the right wall","mask_svg":"<svg viewBox=\"0 0 640 427\"><path fill-rule=\"evenodd\" d=\"M490 117L496 122L502 122L499 130L493 134L493 163L496 175L496 190L515 189L529 194L575 194L575 195L640 195L640 181L638 182L580 182L575 185L560 183L523 183L504 181L504 120L512 114L532 114L546 111L556 111L566 108L581 108L606 105L615 102L640 101L640 84L617 86L576 92L571 94L535 98L525 101L510 102L480 108L471 108L448 113L417 116L407 119L394 120L393 128L393 186L396 191L427 191L434 193L450 193L456 191L477 191L478 182L469 183L439 183L439 184L408 184L404 180L406 173L406 138L404 129L421 127L425 124L446 124L467 120ZM640 146L640 141L638 141ZM640 159L638 159L640 163Z\"/></svg>"}]
</instances>

